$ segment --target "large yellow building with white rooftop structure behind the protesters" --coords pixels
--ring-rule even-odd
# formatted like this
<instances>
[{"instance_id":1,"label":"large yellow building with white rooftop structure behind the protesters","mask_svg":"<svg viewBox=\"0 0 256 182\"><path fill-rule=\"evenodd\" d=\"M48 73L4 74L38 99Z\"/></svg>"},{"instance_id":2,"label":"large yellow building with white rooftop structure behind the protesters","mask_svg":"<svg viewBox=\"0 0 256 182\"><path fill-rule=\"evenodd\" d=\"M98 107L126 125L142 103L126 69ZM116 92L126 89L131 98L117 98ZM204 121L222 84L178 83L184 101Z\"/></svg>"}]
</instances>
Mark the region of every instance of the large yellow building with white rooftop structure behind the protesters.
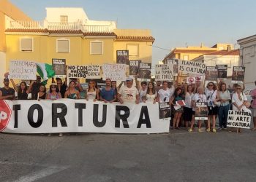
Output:
<instances>
[{"instance_id":1,"label":"large yellow building with white rooftop structure behind the protesters","mask_svg":"<svg viewBox=\"0 0 256 182\"><path fill-rule=\"evenodd\" d=\"M7 23L6 71L10 60L51 64L53 58L61 58L67 65L116 63L117 50L129 50L129 60L151 63L154 37L148 30L118 29L113 21L89 20L82 8L46 11L42 21Z\"/></svg>"}]
</instances>

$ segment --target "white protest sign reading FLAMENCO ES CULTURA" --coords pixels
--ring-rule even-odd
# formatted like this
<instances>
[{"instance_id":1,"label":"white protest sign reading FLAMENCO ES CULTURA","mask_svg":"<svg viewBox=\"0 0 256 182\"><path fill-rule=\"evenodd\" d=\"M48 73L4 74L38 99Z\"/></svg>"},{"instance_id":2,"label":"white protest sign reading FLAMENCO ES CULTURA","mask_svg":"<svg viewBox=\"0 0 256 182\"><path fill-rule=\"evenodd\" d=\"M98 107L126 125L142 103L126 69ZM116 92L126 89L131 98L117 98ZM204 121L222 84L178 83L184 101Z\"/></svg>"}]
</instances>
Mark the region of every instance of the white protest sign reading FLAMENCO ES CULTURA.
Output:
<instances>
[{"instance_id":1,"label":"white protest sign reading FLAMENCO ES CULTURA","mask_svg":"<svg viewBox=\"0 0 256 182\"><path fill-rule=\"evenodd\" d=\"M182 71L184 74L204 75L206 65L190 60L178 60L178 71Z\"/></svg>"}]
</instances>

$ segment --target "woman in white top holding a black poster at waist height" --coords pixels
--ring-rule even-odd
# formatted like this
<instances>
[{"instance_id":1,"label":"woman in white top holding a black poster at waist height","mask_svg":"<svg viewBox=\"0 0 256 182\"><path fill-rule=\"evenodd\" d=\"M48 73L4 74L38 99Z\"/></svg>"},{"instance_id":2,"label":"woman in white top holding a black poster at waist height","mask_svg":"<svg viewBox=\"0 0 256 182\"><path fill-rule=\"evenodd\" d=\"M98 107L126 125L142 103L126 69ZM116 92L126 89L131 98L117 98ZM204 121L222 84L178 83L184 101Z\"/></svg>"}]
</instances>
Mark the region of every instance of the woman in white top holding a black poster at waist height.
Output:
<instances>
[{"instance_id":1,"label":"woman in white top holding a black poster at waist height","mask_svg":"<svg viewBox=\"0 0 256 182\"><path fill-rule=\"evenodd\" d=\"M197 102L206 102L206 95L203 94L203 87L197 87L197 93L195 93L194 97L192 98L192 120L189 132L193 131L195 123L195 103ZM198 120L198 132L202 132L201 124L201 120Z\"/></svg>"}]
</instances>

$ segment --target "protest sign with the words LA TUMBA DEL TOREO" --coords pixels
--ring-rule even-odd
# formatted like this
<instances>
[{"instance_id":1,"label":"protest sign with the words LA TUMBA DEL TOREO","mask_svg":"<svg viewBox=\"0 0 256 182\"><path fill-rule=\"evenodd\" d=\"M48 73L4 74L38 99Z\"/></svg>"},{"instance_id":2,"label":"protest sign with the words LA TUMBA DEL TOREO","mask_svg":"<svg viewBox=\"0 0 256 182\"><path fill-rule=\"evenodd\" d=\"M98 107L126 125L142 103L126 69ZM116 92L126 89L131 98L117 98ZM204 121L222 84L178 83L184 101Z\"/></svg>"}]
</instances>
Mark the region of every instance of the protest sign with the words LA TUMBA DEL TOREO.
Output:
<instances>
[{"instance_id":1,"label":"protest sign with the words LA TUMBA DEL TOREO","mask_svg":"<svg viewBox=\"0 0 256 182\"><path fill-rule=\"evenodd\" d=\"M169 81L173 80L173 66L170 64L156 65L155 79L156 81Z\"/></svg>"}]
</instances>

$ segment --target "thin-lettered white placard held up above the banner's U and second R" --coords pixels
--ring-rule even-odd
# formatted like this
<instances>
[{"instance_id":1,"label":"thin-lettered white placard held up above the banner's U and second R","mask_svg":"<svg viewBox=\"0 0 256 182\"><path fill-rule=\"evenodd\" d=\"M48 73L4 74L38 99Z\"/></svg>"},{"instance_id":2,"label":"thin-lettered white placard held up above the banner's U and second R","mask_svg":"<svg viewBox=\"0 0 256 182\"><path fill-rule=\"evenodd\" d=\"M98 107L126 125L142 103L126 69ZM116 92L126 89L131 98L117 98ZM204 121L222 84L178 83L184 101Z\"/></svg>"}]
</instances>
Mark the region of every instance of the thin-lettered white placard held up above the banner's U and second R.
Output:
<instances>
[{"instance_id":1,"label":"thin-lettered white placard held up above the banner's U and second R","mask_svg":"<svg viewBox=\"0 0 256 182\"><path fill-rule=\"evenodd\" d=\"M102 66L102 79L111 79L114 81L125 81L126 71L127 71L127 65L125 64L104 64Z\"/></svg>"}]
</instances>

